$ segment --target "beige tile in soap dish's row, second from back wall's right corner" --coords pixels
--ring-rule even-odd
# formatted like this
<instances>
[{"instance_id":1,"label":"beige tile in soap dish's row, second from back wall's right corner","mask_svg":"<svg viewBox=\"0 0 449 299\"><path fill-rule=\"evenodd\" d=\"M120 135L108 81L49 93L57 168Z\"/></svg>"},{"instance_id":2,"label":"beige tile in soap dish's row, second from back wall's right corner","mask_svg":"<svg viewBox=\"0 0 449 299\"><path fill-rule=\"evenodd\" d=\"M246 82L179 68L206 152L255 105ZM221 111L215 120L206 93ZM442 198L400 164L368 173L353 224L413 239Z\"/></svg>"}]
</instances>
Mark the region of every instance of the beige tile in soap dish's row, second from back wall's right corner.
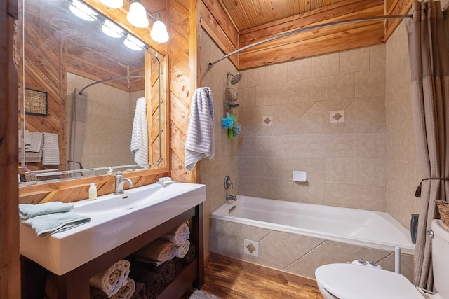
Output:
<instances>
[{"instance_id":1,"label":"beige tile in soap dish's row, second from back wall's right corner","mask_svg":"<svg viewBox=\"0 0 449 299\"><path fill-rule=\"evenodd\" d=\"M326 181L354 183L354 159L326 158Z\"/></svg>"}]
</instances>

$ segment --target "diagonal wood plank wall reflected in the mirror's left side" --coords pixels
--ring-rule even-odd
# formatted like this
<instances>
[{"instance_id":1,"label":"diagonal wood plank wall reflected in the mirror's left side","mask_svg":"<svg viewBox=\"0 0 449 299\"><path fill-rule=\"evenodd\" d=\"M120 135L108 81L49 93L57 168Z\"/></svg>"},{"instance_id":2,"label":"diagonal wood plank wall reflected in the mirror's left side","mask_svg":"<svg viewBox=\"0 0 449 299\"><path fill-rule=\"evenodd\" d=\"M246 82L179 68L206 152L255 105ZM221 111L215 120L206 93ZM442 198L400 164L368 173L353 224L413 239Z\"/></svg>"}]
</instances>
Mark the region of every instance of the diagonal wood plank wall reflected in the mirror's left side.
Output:
<instances>
[{"instance_id":1,"label":"diagonal wood plank wall reflected in the mirror's left side","mask_svg":"<svg viewBox=\"0 0 449 299\"><path fill-rule=\"evenodd\" d=\"M25 116L25 128L32 132L58 134L60 165L27 163L32 170L67 169L65 95L67 91L67 48L58 30L49 23L25 22L25 88L47 92L48 116ZM20 117L19 117L20 118Z\"/></svg>"}]
</instances>

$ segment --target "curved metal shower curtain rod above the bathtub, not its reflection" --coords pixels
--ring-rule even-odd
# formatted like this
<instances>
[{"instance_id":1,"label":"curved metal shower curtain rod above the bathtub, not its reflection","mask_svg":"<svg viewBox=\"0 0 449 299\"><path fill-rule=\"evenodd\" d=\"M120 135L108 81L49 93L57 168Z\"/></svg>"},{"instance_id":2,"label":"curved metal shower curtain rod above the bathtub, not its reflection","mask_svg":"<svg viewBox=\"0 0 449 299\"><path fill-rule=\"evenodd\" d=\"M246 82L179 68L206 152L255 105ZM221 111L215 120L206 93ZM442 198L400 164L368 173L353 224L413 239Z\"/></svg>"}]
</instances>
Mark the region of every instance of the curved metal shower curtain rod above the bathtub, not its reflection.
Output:
<instances>
[{"instance_id":1,"label":"curved metal shower curtain rod above the bathtub, not its reflection","mask_svg":"<svg viewBox=\"0 0 449 299\"><path fill-rule=\"evenodd\" d=\"M331 26L335 26L335 25L342 25L342 24L349 24L349 23L356 23L356 22L369 22L369 21L377 21L377 20L407 19L407 18L412 18L412 15L379 15L377 17L359 18L359 19L354 19L354 20L330 22L330 23L327 23L327 24L315 25L315 26L311 26L311 27L303 27L303 28L295 29L295 30L292 30L290 32L285 32L283 34L279 34L279 35L276 35L276 36L269 37L268 39L262 39L262 41L256 41L255 43L251 43L248 46L244 46L243 48L240 48L238 50L232 51L231 53L221 57L220 59L215 60L215 62L208 61L208 69L212 69L213 65L216 64L217 62L220 62L220 61L226 59L227 57L232 56L234 54L237 54L237 53L239 53L239 52L241 52L243 50L246 50L248 48L260 45L261 43L267 43L268 41L274 41L275 39L281 39L282 37L290 36L290 35L293 35L293 34L307 32L307 31L314 30L314 29L321 29L321 28L331 27Z\"/></svg>"}]
</instances>

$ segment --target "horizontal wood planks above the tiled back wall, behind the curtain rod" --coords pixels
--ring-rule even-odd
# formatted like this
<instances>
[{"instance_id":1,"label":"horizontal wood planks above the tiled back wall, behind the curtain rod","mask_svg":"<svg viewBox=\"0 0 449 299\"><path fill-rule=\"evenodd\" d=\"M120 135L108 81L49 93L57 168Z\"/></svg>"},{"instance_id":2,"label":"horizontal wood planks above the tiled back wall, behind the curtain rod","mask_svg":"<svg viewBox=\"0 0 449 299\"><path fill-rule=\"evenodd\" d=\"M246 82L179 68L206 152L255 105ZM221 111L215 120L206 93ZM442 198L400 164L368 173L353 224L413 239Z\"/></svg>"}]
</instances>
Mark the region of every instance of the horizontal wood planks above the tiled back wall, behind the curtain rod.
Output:
<instances>
[{"instance_id":1,"label":"horizontal wood planks above the tiled back wall, behind the curtain rod","mask_svg":"<svg viewBox=\"0 0 449 299\"><path fill-rule=\"evenodd\" d=\"M384 14L383 0L347 0L240 32L240 48L301 27ZM239 69L297 60L384 41L384 21L338 25L286 36L239 54Z\"/></svg>"}]
</instances>

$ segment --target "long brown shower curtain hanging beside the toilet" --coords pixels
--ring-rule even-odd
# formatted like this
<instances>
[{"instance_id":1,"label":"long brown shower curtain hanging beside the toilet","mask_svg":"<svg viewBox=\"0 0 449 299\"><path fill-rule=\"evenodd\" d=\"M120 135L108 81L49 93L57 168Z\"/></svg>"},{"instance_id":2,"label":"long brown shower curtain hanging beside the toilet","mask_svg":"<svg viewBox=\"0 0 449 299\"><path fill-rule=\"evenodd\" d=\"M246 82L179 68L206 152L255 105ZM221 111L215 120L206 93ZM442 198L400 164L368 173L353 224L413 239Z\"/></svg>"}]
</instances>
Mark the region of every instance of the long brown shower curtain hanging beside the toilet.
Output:
<instances>
[{"instance_id":1,"label":"long brown shower curtain hanging beside the toilet","mask_svg":"<svg viewBox=\"0 0 449 299\"><path fill-rule=\"evenodd\" d=\"M440 2L415 1L412 13L406 26L413 124L422 179L413 283L431 290L431 239L426 232L438 217L434 200L449 201L449 54Z\"/></svg>"}]
</instances>

